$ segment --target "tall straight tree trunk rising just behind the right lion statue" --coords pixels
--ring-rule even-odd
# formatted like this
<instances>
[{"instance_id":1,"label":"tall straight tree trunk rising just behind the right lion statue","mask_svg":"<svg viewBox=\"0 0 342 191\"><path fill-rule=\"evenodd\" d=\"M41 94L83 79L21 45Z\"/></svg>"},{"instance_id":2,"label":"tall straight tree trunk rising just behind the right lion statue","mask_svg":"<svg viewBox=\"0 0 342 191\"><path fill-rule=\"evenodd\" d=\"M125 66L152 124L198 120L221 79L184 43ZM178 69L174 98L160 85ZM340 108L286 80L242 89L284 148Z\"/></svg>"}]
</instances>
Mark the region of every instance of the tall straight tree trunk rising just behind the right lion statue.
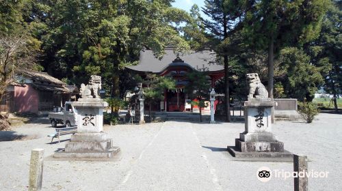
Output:
<instances>
[{"instance_id":1,"label":"tall straight tree trunk rising just behind the right lion statue","mask_svg":"<svg viewBox=\"0 0 342 191\"><path fill-rule=\"evenodd\" d=\"M268 97L271 98L272 102L274 101L273 78L274 78L274 38L272 36L268 45L268 83L267 83ZM274 106L271 109L271 119L272 119L272 123L274 123Z\"/></svg>"}]
</instances>

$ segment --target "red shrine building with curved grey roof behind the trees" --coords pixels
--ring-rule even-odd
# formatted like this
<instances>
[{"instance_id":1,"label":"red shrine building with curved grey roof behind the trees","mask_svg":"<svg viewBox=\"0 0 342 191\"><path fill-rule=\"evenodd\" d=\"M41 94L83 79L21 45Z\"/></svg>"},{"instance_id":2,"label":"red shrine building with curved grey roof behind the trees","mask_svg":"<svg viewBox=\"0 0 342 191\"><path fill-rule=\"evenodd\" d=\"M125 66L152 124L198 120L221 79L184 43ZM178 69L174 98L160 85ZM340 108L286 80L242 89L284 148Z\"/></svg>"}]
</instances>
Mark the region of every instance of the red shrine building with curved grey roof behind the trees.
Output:
<instances>
[{"instance_id":1,"label":"red shrine building with curved grey roof behind the trees","mask_svg":"<svg viewBox=\"0 0 342 191\"><path fill-rule=\"evenodd\" d=\"M189 100L184 92L184 87L187 84L188 72L192 70L207 72L211 80L211 87L214 87L215 82L224 76L224 66L216 63L215 52L203 50L178 57L173 50L173 48L166 48L166 54L160 60L155 58L152 50L142 50L139 64L127 67L131 72L139 74L143 78L146 74L157 74L171 76L176 80L176 89L165 90L164 99L161 100L159 106L153 108L156 111L187 110Z\"/></svg>"}]
</instances>

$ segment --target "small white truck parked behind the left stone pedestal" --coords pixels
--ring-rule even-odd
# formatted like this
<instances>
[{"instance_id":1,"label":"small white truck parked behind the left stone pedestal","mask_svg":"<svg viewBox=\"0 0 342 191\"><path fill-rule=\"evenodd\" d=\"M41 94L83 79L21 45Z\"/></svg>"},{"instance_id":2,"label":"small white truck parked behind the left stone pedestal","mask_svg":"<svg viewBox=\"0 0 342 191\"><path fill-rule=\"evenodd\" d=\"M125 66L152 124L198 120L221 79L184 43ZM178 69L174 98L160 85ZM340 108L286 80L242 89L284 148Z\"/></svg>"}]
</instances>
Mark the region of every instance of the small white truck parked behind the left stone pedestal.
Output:
<instances>
[{"instance_id":1,"label":"small white truck parked behind the left stone pedestal","mask_svg":"<svg viewBox=\"0 0 342 191\"><path fill-rule=\"evenodd\" d=\"M71 102L66 102L65 108L62 111L49 113L51 126L56 128L58 123L65 125L66 128L76 126L75 113L77 113L77 111L71 106Z\"/></svg>"}]
</instances>

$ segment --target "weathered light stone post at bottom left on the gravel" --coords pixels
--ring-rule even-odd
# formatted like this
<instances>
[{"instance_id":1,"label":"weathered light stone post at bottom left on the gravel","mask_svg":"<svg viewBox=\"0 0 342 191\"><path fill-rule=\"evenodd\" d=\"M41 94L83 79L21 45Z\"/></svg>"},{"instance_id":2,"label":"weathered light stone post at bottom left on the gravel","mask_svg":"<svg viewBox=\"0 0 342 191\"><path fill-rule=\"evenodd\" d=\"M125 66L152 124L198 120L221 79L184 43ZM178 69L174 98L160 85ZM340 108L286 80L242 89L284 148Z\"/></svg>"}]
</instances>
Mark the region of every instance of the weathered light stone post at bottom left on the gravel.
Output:
<instances>
[{"instance_id":1,"label":"weathered light stone post at bottom left on the gravel","mask_svg":"<svg viewBox=\"0 0 342 191\"><path fill-rule=\"evenodd\" d=\"M31 151L29 191L42 190L43 157L44 149L33 149Z\"/></svg>"}]
</instances>

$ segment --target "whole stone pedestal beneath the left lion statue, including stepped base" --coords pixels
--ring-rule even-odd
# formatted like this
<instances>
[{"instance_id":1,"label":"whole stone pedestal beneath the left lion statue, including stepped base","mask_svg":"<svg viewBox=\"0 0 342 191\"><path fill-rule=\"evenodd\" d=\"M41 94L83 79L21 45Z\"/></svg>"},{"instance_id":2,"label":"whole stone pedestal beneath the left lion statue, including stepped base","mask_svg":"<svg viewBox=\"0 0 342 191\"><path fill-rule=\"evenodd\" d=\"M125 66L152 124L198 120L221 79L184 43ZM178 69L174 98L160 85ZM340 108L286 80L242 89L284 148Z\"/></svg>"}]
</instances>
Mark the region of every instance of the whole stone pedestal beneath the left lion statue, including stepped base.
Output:
<instances>
[{"instance_id":1,"label":"whole stone pedestal beneath the left lion statue, including stepped base","mask_svg":"<svg viewBox=\"0 0 342 191\"><path fill-rule=\"evenodd\" d=\"M77 133L71 136L63 151L54 154L54 158L112 158L120 151L103 132L103 108L108 106L107 102L99 98L81 98L71 105L75 108Z\"/></svg>"}]
</instances>

